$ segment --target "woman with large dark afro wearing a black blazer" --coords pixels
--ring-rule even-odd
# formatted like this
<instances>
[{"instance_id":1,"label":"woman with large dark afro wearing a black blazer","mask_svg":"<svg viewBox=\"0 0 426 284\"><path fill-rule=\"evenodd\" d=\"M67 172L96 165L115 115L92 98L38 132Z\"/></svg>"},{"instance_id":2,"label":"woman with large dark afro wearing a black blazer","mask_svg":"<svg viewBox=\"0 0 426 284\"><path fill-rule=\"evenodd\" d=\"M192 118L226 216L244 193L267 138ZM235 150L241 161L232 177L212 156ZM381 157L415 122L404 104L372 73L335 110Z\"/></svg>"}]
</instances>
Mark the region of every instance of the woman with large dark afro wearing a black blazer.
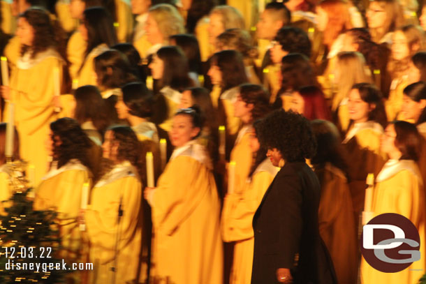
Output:
<instances>
[{"instance_id":1,"label":"woman with large dark afro wearing a black blazer","mask_svg":"<svg viewBox=\"0 0 426 284\"><path fill-rule=\"evenodd\" d=\"M320 184L305 163L316 149L309 121L277 110L260 122L258 137L281 170L254 215L251 283L336 283L318 231Z\"/></svg>"}]
</instances>

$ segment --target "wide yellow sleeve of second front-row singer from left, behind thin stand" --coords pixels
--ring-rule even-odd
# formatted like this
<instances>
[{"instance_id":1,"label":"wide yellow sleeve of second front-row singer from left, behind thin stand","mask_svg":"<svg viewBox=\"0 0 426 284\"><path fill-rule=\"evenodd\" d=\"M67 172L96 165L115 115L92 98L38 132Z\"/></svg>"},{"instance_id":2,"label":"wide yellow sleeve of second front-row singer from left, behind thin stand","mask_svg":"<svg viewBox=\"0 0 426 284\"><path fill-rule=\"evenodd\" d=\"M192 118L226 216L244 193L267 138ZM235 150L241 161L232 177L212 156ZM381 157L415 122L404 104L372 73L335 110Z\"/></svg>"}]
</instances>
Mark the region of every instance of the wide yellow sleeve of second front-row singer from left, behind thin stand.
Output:
<instances>
[{"instance_id":1,"label":"wide yellow sleeve of second front-row singer from left, behind thin stand","mask_svg":"<svg viewBox=\"0 0 426 284\"><path fill-rule=\"evenodd\" d=\"M115 195L105 195L104 188L94 188L92 198L103 200L91 200L91 207L85 213L85 223L89 240L96 246L105 249L114 248L118 230L119 191L122 193L123 216L120 221L121 239L130 240L135 233L135 227L139 222L141 185L135 177L118 179L105 187L113 188ZM95 195L94 190L98 190ZM110 193L112 190L108 190ZM119 248L126 246L121 243Z\"/></svg>"}]
</instances>

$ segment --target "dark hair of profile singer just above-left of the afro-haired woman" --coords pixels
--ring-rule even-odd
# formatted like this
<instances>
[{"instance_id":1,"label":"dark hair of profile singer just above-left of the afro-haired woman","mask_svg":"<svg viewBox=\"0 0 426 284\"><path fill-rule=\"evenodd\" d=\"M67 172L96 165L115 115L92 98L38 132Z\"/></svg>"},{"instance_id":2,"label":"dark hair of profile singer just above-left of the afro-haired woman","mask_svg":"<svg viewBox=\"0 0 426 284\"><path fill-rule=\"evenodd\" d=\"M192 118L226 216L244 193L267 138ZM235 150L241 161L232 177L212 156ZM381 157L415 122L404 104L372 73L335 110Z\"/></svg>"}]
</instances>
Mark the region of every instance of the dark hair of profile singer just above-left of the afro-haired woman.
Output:
<instances>
[{"instance_id":1,"label":"dark hair of profile singer just above-left of the afro-haired woman","mask_svg":"<svg viewBox=\"0 0 426 284\"><path fill-rule=\"evenodd\" d=\"M244 103L252 104L251 121L265 117L270 112L269 95L257 84L240 85L240 96Z\"/></svg>"}]
</instances>

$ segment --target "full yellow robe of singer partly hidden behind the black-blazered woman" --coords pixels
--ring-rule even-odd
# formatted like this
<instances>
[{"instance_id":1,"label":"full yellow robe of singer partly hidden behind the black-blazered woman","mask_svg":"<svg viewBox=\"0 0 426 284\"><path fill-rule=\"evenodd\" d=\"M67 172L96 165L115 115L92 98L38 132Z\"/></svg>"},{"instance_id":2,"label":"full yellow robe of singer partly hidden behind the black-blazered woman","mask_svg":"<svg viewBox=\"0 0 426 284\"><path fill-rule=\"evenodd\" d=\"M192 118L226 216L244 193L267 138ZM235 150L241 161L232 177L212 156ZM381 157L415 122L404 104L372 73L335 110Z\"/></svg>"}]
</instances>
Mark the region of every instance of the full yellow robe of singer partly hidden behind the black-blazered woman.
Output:
<instances>
[{"instance_id":1,"label":"full yellow robe of singer partly hidden behind the black-blazered woman","mask_svg":"<svg viewBox=\"0 0 426 284\"><path fill-rule=\"evenodd\" d=\"M251 283L253 267L253 216L270 186L278 167L265 159L247 181L242 193L230 193L223 201L221 232L223 241L235 241L230 284Z\"/></svg>"}]
</instances>

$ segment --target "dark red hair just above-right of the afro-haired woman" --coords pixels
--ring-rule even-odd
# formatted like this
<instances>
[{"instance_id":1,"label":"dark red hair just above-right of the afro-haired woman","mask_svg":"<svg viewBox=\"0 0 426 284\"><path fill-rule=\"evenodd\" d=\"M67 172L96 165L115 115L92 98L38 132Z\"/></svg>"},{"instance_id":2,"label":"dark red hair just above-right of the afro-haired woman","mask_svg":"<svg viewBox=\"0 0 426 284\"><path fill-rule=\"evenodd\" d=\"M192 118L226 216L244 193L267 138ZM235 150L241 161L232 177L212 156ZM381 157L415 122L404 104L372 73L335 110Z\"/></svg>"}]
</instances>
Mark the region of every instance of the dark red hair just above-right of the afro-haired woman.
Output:
<instances>
[{"instance_id":1,"label":"dark red hair just above-right of the afro-haired woman","mask_svg":"<svg viewBox=\"0 0 426 284\"><path fill-rule=\"evenodd\" d=\"M304 100L303 115L309 120L325 119L330 121L330 108L323 91L316 86L302 87L297 90Z\"/></svg>"}]
</instances>

